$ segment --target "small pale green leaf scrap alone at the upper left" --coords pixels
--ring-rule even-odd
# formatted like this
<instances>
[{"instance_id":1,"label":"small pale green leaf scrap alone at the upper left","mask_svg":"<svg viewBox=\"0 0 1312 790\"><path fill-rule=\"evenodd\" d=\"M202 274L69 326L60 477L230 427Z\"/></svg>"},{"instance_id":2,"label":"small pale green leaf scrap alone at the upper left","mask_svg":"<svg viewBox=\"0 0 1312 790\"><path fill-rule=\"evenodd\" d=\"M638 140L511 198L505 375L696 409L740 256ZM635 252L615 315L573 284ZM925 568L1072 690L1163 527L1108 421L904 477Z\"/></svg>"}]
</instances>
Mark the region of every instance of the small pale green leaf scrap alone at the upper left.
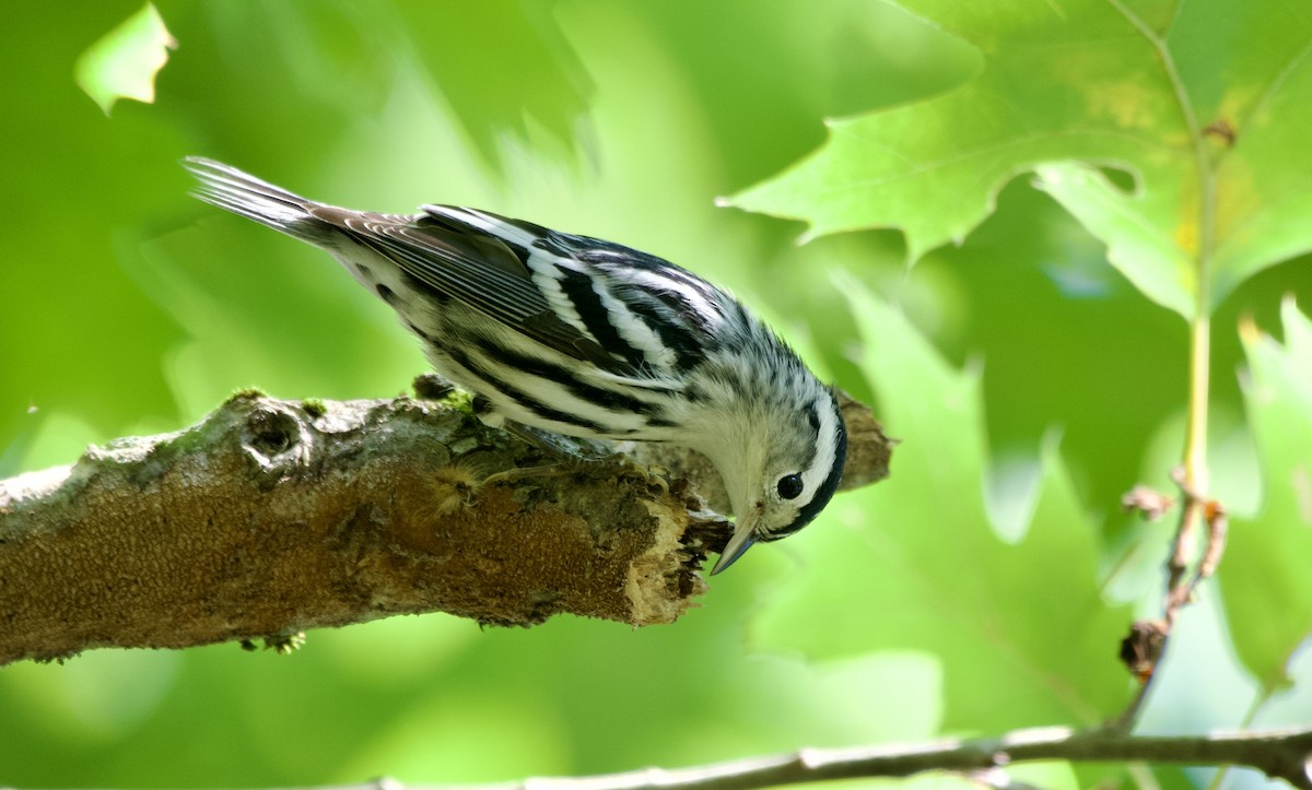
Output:
<instances>
[{"instance_id":1,"label":"small pale green leaf scrap alone at the upper left","mask_svg":"<svg viewBox=\"0 0 1312 790\"><path fill-rule=\"evenodd\" d=\"M155 101L155 75L168 63L177 41L147 3L100 41L87 47L73 67L77 87L108 115L119 98Z\"/></svg>"}]
</instances>

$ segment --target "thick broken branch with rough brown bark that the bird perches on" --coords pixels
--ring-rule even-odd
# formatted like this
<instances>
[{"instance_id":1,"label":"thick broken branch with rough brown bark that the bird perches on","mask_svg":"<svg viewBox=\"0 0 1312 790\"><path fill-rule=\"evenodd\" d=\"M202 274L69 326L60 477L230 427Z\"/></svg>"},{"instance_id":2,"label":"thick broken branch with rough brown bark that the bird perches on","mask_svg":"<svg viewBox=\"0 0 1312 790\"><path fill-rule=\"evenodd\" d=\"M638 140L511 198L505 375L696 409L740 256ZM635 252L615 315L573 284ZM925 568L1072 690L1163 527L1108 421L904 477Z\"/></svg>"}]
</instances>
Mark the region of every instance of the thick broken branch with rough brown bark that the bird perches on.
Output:
<instances>
[{"instance_id":1,"label":"thick broken branch with rough brown bark that the bird perches on","mask_svg":"<svg viewBox=\"0 0 1312 790\"><path fill-rule=\"evenodd\" d=\"M425 612L666 623L706 591L701 563L731 526L694 493L691 459L685 475L666 458L669 480L625 457L571 462L458 402L248 392L185 430L0 480L0 664Z\"/></svg>"}]
</instances>

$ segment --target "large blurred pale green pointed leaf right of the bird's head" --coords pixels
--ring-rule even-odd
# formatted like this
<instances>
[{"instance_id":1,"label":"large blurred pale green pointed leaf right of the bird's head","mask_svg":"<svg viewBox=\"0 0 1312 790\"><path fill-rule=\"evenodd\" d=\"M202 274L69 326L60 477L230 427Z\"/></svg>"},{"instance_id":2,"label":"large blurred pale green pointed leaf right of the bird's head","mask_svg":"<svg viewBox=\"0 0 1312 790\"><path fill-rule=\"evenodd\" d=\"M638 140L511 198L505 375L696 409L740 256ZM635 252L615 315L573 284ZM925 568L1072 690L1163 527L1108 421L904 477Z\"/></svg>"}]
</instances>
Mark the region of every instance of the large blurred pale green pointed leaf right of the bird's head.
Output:
<instances>
[{"instance_id":1,"label":"large blurred pale green pointed leaf right of the bird's head","mask_svg":"<svg viewBox=\"0 0 1312 790\"><path fill-rule=\"evenodd\" d=\"M840 497L798 541L810 562L756 623L757 638L813 657L933 654L945 730L1111 715L1128 698L1115 656L1130 613L1102 598L1096 528L1056 442L1044 444L1036 483L1014 492L1029 505L1017 508L1029 516L1025 534L1002 539L985 505L979 377L951 369L857 283L842 287L882 416L907 441L888 482Z\"/></svg>"}]
</instances>

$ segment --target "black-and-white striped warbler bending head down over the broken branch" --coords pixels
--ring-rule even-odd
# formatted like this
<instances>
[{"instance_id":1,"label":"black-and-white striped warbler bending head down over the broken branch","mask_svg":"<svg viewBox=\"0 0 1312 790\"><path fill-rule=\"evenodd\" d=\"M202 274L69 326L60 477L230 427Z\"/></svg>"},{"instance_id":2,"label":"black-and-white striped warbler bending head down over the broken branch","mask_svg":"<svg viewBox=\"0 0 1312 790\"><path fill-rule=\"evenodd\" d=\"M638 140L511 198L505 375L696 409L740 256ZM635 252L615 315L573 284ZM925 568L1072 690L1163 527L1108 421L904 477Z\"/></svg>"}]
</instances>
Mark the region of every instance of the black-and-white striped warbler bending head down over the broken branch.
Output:
<instances>
[{"instance_id":1,"label":"black-and-white striped warbler bending head down over the broken branch","mask_svg":"<svg viewBox=\"0 0 1312 790\"><path fill-rule=\"evenodd\" d=\"M732 297L659 257L454 206L327 206L192 157L197 197L333 255L482 395L484 423L673 442L711 459L737 516L712 573L806 526L838 486L832 390Z\"/></svg>"}]
</instances>

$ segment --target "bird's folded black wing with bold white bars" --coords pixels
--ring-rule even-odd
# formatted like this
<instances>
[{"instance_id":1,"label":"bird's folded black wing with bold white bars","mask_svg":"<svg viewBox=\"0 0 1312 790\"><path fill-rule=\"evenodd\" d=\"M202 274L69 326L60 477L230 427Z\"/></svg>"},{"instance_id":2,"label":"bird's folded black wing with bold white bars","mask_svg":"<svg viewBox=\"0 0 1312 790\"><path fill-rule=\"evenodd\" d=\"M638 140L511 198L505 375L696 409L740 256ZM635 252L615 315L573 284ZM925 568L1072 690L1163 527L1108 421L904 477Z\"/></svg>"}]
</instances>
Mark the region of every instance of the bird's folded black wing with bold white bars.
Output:
<instances>
[{"instance_id":1,"label":"bird's folded black wing with bold white bars","mask_svg":"<svg viewBox=\"0 0 1312 790\"><path fill-rule=\"evenodd\" d=\"M635 386L677 379L694 365L714 341L727 299L655 256L474 209L424 206L419 217L311 211L440 298Z\"/></svg>"}]
</instances>

